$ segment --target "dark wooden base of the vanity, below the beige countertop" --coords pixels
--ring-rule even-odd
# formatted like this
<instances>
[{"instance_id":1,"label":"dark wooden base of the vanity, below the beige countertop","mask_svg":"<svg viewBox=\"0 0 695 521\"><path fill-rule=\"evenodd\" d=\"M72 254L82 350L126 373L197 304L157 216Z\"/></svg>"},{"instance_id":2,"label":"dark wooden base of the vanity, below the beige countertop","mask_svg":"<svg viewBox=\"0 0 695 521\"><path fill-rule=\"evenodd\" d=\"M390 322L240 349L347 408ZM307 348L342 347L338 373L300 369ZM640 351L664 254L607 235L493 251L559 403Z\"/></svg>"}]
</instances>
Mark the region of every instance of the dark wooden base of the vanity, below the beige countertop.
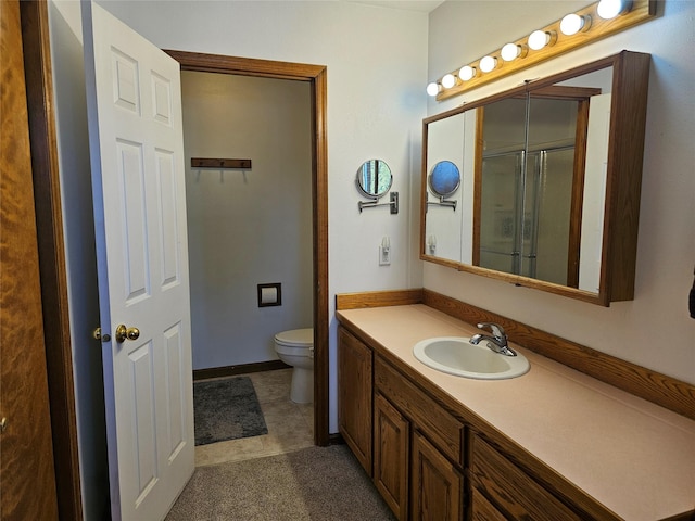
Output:
<instances>
[{"instance_id":1,"label":"dark wooden base of the vanity, below the beige countertop","mask_svg":"<svg viewBox=\"0 0 695 521\"><path fill-rule=\"evenodd\" d=\"M573 521L605 517L583 513L578 505L561 500L547 486L553 483L552 472L543 474L544 479L528 474L490 444L479 427L453 416L444 398L435 399L435 394L406 377L378 348L342 326L338 341L340 433L397 519ZM608 514L606 519L614 518Z\"/></svg>"}]
</instances>

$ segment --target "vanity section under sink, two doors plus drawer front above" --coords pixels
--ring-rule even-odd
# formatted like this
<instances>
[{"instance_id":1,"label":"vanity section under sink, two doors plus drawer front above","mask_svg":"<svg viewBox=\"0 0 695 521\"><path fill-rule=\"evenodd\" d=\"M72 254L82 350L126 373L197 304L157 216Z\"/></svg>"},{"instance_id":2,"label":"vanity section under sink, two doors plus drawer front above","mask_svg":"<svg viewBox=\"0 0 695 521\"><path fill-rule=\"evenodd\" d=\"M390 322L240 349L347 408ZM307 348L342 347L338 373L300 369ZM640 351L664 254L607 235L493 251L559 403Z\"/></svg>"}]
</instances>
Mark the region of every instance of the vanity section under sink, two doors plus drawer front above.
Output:
<instances>
[{"instance_id":1,"label":"vanity section under sink, two doors plus drawer front above","mask_svg":"<svg viewBox=\"0 0 695 521\"><path fill-rule=\"evenodd\" d=\"M464 425L375 356L374 481L401 520L462 520Z\"/></svg>"}]
</instances>

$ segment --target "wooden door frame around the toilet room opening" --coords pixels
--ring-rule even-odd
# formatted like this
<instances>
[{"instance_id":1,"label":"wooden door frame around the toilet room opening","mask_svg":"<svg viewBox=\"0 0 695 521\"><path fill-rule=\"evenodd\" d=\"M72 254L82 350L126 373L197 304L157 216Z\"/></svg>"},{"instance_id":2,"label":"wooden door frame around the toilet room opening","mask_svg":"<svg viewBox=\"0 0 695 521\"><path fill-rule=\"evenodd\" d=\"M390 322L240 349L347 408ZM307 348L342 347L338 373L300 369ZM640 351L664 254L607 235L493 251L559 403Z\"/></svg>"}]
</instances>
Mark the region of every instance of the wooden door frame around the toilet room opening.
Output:
<instances>
[{"instance_id":1,"label":"wooden door frame around the toilet room opening","mask_svg":"<svg viewBox=\"0 0 695 521\"><path fill-rule=\"evenodd\" d=\"M328 350L328 141L327 68L324 65L276 62L248 58L164 52L181 71L257 76L308 81L312 87L312 195L314 262L314 443L329 444L329 350Z\"/></svg>"}]
</instances>

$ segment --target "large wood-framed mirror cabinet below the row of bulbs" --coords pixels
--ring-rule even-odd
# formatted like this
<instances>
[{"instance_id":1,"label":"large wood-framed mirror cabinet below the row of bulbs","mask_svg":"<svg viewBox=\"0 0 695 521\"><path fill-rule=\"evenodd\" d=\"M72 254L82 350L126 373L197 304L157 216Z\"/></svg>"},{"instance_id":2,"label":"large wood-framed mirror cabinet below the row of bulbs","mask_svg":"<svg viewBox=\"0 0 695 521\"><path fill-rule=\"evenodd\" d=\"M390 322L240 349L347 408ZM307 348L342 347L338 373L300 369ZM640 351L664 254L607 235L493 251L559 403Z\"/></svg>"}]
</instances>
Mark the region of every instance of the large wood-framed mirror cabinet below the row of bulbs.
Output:
<instances>
[{"instance_id":1,"label":"large wood-framed mirror cabinet below the row of bulbs","mask_svg":"<svg viewBox=\"0 0 695 521\"><path fill-rule=\"evenodd\" d=\"M631 300L649 55L615 56L424 122L425 260L602 305ZM454 211L432 204L442 162Z\"/></svg>"}]
</instances>

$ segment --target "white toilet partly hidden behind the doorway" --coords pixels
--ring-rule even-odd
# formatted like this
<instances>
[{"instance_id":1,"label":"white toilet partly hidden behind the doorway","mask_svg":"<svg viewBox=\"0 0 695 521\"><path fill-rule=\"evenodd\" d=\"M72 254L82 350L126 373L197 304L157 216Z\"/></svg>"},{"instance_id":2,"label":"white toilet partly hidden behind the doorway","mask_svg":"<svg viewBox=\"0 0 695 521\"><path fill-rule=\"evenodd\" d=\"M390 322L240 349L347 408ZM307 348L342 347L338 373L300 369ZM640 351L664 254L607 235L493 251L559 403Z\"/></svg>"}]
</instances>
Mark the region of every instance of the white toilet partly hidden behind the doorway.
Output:
<instances>
[{"instance_id":1,"label":"white toilet partly hidden behind the doorway","mask_svg":"<svg viewBox=\"0 0 695 521\"><path fill-rule=\"evenodd\" d=\"M290 399L295 404L314 402L314 329L292 329L275 335L275 352L292 366Z\"/></svg>"}]
</instances>

